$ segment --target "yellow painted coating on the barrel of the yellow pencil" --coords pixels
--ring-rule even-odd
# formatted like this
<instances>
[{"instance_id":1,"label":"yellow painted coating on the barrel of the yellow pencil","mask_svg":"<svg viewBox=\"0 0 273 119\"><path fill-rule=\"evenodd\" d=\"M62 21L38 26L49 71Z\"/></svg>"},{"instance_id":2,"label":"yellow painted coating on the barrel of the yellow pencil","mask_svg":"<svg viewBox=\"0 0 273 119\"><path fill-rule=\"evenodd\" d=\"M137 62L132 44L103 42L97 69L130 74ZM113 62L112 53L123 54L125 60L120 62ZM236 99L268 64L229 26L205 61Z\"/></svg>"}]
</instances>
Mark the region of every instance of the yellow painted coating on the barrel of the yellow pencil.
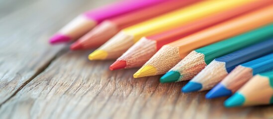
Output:
<instances>
[{"instance_id":1,"label":"yellow painted coating on the barrel of the yellow pencil","mask_svg":"<svg viewBox=\"0 0 273 119\"><path fill-rule=\"evenodd\" d=\"M178 25L183 25L194 19L202 18L249 2L249 0L206 0L190 7L176 10L146 22L142 22L124 29L123 31L126 34L133 34L134 42L137 42L143 36L153 35L176 28ZM215 10L217 10L217 12L215 12Z\"/></svg>"}]
</instances>

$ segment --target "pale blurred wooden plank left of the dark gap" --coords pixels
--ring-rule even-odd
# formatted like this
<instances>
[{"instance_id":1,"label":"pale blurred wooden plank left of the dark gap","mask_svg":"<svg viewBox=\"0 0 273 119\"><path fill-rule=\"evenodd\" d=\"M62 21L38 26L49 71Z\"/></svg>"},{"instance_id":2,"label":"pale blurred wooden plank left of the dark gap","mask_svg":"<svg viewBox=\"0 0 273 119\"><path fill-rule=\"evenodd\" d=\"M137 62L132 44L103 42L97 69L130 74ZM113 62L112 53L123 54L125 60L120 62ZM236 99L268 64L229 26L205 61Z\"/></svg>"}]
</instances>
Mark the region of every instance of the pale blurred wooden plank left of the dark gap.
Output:
<instances>
[{"instance_id":1,"label":"pale blurred wooden plank left of the dark gap","mask_svg":"<svg viewBox=\"0 0 273 119\"><path fill-rule=\"evenodd\" d=\"M17 10L1 17L0 104L39 74L63 48L63 45L50 46L49 37L73 17L104 4L103 1L36 0L27 5L21 4ZM3 3L8 5L13 2ZM5 8L4 11L8 11L9 7L1 9Z\"/></svg>"}]
</instances>

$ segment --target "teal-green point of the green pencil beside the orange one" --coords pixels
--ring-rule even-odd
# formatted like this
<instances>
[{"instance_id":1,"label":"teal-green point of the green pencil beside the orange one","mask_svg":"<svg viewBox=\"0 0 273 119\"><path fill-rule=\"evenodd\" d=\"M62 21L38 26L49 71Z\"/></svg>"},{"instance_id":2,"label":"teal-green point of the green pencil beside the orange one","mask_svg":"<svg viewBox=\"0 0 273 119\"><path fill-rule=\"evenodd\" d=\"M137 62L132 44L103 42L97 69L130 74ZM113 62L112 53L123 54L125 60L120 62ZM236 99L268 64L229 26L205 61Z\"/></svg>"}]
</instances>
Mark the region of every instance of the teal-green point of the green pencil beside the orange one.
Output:
<instances>
[{"instance_id":1,"label":"teal-green point of the green pencil beside the orange one","mask_svg":"<svg viewBox=\"0 0 273 119\"><path fill-rule=\"evenodd\" d=\"M177 71L169 71L160 78L160 82L161 83L176 82L179 80L180 76L181 76L180 73Z\"/></svg>"}]
</instances>

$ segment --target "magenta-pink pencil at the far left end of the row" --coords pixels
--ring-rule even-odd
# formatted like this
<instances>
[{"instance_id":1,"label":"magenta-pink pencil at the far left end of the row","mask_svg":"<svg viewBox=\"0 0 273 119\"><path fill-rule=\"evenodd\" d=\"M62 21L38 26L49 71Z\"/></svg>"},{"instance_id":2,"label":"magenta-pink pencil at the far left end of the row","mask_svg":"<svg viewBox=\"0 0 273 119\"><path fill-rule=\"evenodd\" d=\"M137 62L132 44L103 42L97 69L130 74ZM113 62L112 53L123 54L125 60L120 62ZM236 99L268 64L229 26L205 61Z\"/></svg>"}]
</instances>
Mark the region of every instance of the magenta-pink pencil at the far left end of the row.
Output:
<instances>
[{"instance_id":1,"label":"magenta-pink pencil at the far left end of the row","mask_svg":"<svg viewBox=\"0 0 273 119\"><path fill-rule=\"evenodd\" d=\"M160 3L164 0L124 0L104 7L87 11L58 31L51 39L51 44L76 40L89 32L96 24L130 11Z\"/></svg>"}]
</instances>

